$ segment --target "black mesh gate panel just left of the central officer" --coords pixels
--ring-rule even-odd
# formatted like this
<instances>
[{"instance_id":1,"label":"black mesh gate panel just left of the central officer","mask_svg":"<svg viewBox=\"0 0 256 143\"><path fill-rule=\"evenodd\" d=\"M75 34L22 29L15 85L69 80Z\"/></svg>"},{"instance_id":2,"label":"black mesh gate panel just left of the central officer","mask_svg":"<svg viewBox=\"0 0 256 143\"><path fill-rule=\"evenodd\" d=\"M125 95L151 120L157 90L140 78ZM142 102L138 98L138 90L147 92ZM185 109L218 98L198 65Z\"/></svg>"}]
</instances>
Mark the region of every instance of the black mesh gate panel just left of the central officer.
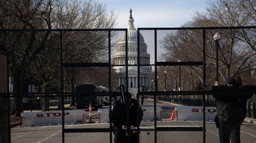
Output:
<instances>
[{"instance_id":1,"label":"black mesh gate panel just left of the central officer","mask_svg":"<svg viewBox=\"0 0 256 143\"><path fill-rule=\"evenodd\" d=\"M108 114L114 96L121 95L120 78L124 91L127 87L127 29L61 31L61 38L61 91L72 89L76 107L87 108L80 125L65 125L73 117L64 116L68 111L62 111L62 141L113 142ZM75 40L71 43L72 38ZM96 86L93 89L96 93L88 93L89 86ZM91 98L95 95L97 98ZM62 97L62 109L64 100Z\"/></svg>"}]
</instances>

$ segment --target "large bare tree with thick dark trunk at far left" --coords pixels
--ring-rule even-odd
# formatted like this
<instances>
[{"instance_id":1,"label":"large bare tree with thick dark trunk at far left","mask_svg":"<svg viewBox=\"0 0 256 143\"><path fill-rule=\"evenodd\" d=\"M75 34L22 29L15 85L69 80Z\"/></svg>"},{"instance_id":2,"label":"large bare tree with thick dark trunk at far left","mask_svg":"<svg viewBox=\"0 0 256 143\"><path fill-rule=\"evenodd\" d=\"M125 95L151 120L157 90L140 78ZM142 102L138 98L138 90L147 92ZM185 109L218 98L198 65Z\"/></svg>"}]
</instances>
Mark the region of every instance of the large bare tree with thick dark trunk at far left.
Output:
<instances>
[{"instance_id":1,"label":"large bare tree with thick dark trunk at far left","mask_svg":"<svg viewBox=\"0 0 256 143\"><path fill-rule=\"evenodd\" d=\"M2 29L51 29L52 0L7 0L0 5ZM0 50L9 54L13 92L22 92L29 63L44 49L49 34L43 33L41 40L37 40L35 32L1 33ZM11 114L20 116L22 110L22 98L14 98Z\"/></svg>"}]
</instances>

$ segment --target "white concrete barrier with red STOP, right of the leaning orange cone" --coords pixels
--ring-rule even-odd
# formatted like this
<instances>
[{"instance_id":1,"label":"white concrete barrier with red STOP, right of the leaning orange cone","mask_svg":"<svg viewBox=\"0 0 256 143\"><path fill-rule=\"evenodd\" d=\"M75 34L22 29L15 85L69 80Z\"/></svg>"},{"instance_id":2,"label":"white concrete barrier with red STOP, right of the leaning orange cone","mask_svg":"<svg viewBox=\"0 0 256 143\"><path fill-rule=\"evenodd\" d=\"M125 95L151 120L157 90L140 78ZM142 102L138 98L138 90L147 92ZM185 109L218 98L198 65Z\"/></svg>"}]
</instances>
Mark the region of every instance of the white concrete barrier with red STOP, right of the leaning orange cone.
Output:
<instances>
[{"instance_id":1,"label":"white concrete barrier with red STOP, right of the leaning orange cone","mask_svg":"<svg viewBox=\"0 0 256 143\"><path fill-rule=\"evenodd\" d=\"M175 107L174 119L177 121L202 121L203 107L199 106L178 106ZM216 107L205 107L206 121L214 121Z\"/></svg>"}]
</instances>

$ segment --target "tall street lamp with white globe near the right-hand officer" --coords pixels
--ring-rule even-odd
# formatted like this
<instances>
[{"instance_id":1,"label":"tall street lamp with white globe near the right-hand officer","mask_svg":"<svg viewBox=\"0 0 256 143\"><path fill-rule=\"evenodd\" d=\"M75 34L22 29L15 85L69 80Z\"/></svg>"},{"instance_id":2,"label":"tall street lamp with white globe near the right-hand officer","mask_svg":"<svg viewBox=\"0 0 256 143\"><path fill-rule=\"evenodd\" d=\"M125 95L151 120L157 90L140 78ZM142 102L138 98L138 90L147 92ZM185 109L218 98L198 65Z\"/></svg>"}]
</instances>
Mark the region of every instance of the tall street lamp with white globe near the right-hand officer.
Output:
<instances>
[{"instance_id":1,"label":"tall street lamp with white globe near the right-hand officer","mask_svg":"<svg viewBox=\"0 0 256 143\"><path fill-rule=\"evenodd\" d=\"M216 49L216 82L215 85L219 85L219 40L221 35L219 32L216 32L213 36L213 40L215 41L215 49Z\"/></svg>"}]
</instances>

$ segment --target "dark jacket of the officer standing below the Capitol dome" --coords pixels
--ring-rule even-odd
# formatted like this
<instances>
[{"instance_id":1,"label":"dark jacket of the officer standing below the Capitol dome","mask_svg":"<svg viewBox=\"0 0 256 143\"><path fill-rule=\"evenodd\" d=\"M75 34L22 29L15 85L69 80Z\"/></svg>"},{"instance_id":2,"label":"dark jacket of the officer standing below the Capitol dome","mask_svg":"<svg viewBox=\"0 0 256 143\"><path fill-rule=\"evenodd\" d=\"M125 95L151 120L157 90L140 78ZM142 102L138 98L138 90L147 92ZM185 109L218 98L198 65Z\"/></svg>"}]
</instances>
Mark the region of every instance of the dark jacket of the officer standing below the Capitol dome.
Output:
<instances>
[{"instance_id":1,"label":"dark jacket of the officer standing below the Capitol dome","mask_svg":"<svg viewBox=\"0 0 256 143\"><path fill-rule=\"evenodd\" d=\"M135 127L137 126L137 109L136 109L137 103L136 100L132 99L130 103L130 126L134 125ZM121 129L122 125L127 126L126 122L126 106L122 105L121 101L117 100L114 101L111 107L111 112L109 114L109 118L112 119L112 123L114 128ZM143 112L141 107L139 106L139 123L141 123L143 118Z\"/></svg>"}]
</instances>

